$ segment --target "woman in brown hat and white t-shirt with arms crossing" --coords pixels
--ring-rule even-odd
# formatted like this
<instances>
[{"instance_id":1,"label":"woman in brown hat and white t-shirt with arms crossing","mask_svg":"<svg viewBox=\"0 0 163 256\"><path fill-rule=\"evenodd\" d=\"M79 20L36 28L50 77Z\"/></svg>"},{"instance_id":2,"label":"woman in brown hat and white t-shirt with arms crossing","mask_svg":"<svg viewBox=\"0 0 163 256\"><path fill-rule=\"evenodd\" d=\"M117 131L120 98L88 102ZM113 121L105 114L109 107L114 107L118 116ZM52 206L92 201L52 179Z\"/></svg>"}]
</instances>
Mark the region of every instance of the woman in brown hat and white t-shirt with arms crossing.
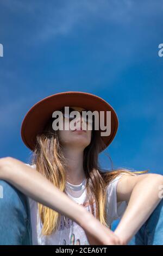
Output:
<instances>
[{"instance_id":1,"label":"woman in brown hat and white t-shirt with arms crossing","mask_svg":"<svg viewBox=\"0 0 163 256\"><path fill-rule=\"evenodd\" d=\"M67 115L64 106L81 116ZM83 118L85 110L103 111L107 125L110 111L109 136L95 129L99 119ZM63 114L68 130L54 129L54 111ZM106 101L81 92L51 95L26 114L21 135L34 151L32 166L11 157L0 159L0 179L27 195L33 244L125 245L160 205L162 175L99 167L98 154L114 139L117 127L117 115ZM112 232L111 222L118 217L121 222Z\"/></svg>"}]
</instances>

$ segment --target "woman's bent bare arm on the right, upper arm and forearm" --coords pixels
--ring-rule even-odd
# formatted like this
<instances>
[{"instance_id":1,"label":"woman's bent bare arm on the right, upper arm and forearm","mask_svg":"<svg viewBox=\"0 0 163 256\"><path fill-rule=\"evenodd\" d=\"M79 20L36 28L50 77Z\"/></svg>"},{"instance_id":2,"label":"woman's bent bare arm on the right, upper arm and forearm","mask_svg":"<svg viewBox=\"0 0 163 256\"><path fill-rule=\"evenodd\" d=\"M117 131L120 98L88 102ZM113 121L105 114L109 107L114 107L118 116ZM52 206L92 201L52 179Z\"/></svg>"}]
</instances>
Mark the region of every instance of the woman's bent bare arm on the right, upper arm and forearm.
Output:
<instances>
[{"instance_id":1,"label":"woman's bent bare arm on the right, upper arm and forearm","mask_svg":"<svg viewBox=\"0 0 163 256\"><path fill-rule=\"evenodd\" d=\"M119 180L117 201L127 201L128 206L115 234L124 243L130 241L159 204L160 185L163 185L163 176L152 173L137 176L126 174Z\"/></svg>"}]
</instances>

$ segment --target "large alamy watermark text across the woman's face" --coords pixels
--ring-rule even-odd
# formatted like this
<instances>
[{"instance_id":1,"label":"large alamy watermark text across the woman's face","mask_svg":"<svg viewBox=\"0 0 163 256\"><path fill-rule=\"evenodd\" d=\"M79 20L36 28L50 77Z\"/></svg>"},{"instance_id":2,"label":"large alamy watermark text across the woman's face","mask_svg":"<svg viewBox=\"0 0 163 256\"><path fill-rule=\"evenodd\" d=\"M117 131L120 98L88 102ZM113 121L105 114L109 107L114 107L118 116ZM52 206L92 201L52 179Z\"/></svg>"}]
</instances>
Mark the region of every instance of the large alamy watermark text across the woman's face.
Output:
<instances>
[{"instance_id":1,"label":"large alamy watermark text across the woman's face","mask_svg":"<svg viewBox=\"0 0 163 256\"><path fill-rule=\"evenodd\" d=\"M54 111L52 117L55 118L52 124L53 130L95 130L101 131L101 136L109 136L111 133L111 111L77 111L65 107L64 111ZM80 124L82 113L82 125ZM77 124L78 120L78 124ZM106 125L105 125L106 122ZM81 129L82 128L82 129ZM103 132L102 132L103 131Z\"/></svg>"}]
</instances>

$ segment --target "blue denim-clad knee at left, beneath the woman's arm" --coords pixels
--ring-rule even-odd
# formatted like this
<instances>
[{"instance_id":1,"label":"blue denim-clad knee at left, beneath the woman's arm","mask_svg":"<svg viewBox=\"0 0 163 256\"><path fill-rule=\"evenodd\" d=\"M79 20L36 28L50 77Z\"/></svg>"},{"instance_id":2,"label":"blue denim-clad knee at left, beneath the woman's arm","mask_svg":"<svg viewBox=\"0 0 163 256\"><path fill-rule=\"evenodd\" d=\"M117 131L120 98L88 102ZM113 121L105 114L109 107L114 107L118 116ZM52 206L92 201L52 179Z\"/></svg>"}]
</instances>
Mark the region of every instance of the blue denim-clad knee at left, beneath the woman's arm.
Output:
<instances>
[{"instance_id":1,"label":"blue denim-clad knee at left, beneath the woman's arm","mask_svg":"<svg viewBox=\"0 0 163 256\"><path fill-rule=\"evenodd\" d=\"M31 245L28 197L4 180L0 191L0 245Z\"/></svg>"}]
</instances>

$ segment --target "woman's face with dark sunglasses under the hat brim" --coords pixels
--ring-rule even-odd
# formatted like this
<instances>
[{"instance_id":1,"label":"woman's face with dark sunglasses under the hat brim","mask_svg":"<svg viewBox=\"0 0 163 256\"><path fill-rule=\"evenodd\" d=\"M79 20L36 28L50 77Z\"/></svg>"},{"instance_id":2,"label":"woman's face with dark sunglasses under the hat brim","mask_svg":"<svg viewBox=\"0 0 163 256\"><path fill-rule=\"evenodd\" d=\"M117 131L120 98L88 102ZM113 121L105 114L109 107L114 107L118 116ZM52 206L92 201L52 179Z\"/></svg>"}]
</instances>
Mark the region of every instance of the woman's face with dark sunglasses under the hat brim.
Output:
<instances>
[{"instance_id":1,"label":"woman's face with dark sunglasses under the hat brim","mask_svg":"<svg viewBox=\"0 0 163 256\"><path fill-rule=\"evenodd\" d=\"M84 108L80 107L71 107L74 111L84 111ZM59 130L59 139L63 146L65 147L78 147L82 148L83 150L90 144L91 142L91 133L92 130L90 129L91 124L87 123L86 120L82 118L82 112L80 113L80 117L74 121L74 128L71 128L71 120L69 121L68 118L64 118L64 124L67 123L69 130ZM78 130L82 129L84 130Z\"/></svg>"}]
</instances>

